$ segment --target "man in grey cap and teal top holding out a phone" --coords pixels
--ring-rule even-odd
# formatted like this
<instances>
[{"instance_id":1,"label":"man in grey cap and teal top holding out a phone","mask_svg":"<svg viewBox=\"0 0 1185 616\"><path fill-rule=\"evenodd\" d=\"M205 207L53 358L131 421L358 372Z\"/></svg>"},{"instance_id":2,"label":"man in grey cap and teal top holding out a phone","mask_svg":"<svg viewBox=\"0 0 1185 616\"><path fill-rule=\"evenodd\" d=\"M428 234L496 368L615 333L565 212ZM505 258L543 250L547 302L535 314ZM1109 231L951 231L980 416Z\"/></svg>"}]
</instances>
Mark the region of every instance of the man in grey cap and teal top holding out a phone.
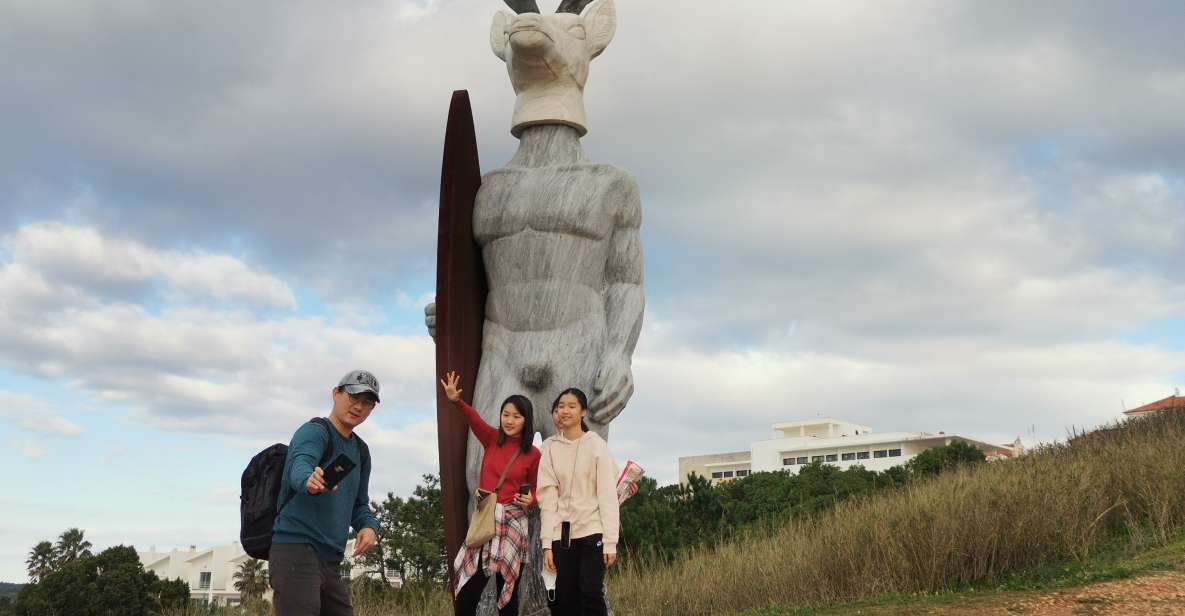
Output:
<instances>
[{"instance_id":1,"label":"man in grey cap and teal top holding out a phone","mask_svg":"<svg viewBox=\"0 0 1185 616\"><path fill-rule=\"evenodd\" d=\"M341 579L350 527L358 532L354 557L378 541L378 520L370 511L370 455L354 429L378 404L378 379L356 370L333 387L329 430L308 422L293 435L284 460L282 508L271 530L268 557L277 616L352 616L350 588ZM328 448L327 448L328 445ZM334 488L327 489L318 466L345 454L354 463ZM327 464L328 466L328 464ZM295 493L295 494L294 494ZM290 500L284 500L292 495Z\"/></svg>"}]
</instances>

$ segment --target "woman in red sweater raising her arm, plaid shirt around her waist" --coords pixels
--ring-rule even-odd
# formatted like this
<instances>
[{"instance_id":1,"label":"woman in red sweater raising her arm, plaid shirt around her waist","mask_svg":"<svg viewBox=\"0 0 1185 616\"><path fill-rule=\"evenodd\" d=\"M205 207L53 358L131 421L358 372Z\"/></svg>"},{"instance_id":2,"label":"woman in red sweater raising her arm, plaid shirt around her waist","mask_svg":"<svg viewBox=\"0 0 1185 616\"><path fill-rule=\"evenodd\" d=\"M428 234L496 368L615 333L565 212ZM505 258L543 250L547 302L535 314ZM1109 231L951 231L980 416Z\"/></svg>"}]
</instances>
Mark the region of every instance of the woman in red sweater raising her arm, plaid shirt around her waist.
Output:
<instances>
[{"instance_id":1,"label":"woman in red sweater raising her arm, plaid shirt around her waist","mask_svg":"<svg viewBox=\"0 0 1185 616\"><path fill-rule=\"evenodd\" d=\"M511 396L502 402L495 429L461 399L460 380L456 372L449 372L441 379L441 386L486 450L478 487L486 492L497 488L498 506L494 508L494 537L481 547L461 546L453 563L456 571L454 609L456 616L476 614L481 592L494 576L498 614L517 616L517 582L523 572L523 557L527 553L526 509L536 506L534 483L539 474L539 449L532 444L534 411L525 396ZM497 487L504 471L506 479Z\"/></svg>"}]
</instances>

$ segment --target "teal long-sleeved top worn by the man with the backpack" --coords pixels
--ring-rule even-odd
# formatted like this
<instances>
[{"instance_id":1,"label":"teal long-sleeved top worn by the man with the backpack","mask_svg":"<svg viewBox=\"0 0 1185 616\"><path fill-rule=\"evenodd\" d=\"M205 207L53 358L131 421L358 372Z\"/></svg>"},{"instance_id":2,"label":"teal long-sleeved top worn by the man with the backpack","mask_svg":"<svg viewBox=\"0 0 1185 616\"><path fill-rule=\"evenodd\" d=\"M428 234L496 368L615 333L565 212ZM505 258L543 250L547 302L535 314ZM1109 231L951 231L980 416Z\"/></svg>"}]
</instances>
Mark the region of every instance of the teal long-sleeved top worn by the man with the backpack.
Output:
<instances>
[{"instance_id":1,"label":"teal long-sleeved top worn by the man with the backpack","mask_svg":"<svg viewBox=\"0 0 1185 616\"><path fill-rule=\"evenodd\" d=\"M378 520L370 509L370 460L363 461L358 438L341 436L333 424L325 428L306 423L293 435L284 458L284 483L276 507L282 507L271 527L273 544L308 544L322 560L341 560L346 551L350 527L354 531L373 528ZM338 483L335 492L309 495L306 483L313 468L321 461L327 439L333 439L328 460L345 454L354 462L352 470ZM289 500L290 496L290 500ZM287 501L287 503L286 503Z\"/></svg>"}]
</instances>

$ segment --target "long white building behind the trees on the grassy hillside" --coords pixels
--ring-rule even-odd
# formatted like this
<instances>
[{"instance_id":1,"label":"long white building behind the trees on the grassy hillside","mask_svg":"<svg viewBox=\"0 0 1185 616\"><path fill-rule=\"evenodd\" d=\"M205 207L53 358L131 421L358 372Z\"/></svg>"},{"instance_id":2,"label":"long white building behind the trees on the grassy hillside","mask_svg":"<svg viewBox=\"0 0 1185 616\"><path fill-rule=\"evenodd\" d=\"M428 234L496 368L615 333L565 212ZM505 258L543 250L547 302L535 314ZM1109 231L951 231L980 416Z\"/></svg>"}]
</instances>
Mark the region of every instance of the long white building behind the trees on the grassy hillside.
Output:
<instances>
[{"instance_id":1,"label":"long white building behind the trees on the grassy hillside","mask_svg":"<svg viewBox=\"0 0 1185 616\"><path fill-rule=\"evenodd\" d=\"M875 432L867 425L831 418L787 422L773 428L781 436L757 441L750 444L749 451L680 457L679 480L685 482L691 473L713 482L770 470L796 473L813 462L839 468L859 464L880 471L904 464L927 449L955 441L978 447L988 460L1024 453L1019 438L1011 445L997 445L943 432Z\"/></svg>"}]
</instances>

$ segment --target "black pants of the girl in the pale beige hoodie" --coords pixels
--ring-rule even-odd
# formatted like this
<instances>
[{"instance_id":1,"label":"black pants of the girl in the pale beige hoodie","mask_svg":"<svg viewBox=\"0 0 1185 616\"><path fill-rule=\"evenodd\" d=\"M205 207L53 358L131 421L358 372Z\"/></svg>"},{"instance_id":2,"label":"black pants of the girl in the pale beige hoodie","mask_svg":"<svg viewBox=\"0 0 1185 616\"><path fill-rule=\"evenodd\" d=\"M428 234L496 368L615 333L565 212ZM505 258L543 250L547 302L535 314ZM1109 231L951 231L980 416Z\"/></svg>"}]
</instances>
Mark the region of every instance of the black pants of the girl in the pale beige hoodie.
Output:
<instances>
[{"instance_id":1,"label":"black pants of the girl in the pale beige hoodie","mask_svg":"<svg viewBox=\"0 0 1185 616\"><path fill-rule=\"evenodd\" d=\"M604 604L604 546L600 534L572 539L571 547L551 543L556 562L556 601L551 616L607 616Z\"/></svg>"}]
</instances>

